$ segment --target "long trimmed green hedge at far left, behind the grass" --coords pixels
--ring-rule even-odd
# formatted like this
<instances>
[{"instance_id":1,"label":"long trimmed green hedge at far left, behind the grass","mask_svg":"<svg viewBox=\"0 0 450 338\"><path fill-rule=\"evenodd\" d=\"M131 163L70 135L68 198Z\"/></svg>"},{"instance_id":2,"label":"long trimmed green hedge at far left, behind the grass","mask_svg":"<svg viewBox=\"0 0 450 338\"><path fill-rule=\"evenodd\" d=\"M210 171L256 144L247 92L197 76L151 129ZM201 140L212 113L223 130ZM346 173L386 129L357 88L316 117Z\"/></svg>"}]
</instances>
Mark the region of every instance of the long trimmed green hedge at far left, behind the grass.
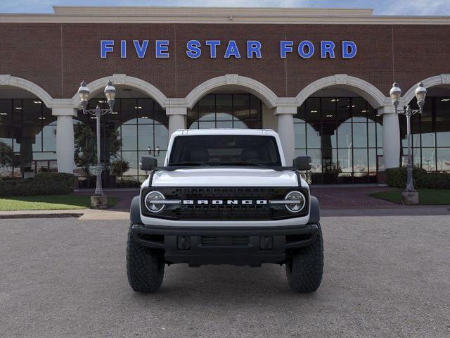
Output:
<instances>
[{"instance_id":1,"label":"long trimmed green hedge at far left, behind the grass","mask_svg":"<svg viewBox=\"0 0 450 338\"><path fill-rule=\"evenodd\" d=\"M65 173L39 173L24 180L0 180L0 196L70 194L74 177Z\"/></svg>"}]
</instances>

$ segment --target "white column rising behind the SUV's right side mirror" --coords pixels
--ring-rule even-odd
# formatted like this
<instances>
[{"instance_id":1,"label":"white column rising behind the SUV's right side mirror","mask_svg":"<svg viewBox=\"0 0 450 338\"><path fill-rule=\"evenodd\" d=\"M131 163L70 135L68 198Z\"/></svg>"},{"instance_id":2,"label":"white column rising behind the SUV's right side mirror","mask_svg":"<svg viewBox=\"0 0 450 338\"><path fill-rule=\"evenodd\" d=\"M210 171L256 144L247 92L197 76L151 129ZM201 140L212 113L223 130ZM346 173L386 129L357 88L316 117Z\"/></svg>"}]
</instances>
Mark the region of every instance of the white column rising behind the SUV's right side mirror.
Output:
<instances>
[{"instance_id":1,"label":"white column rising behind the SUV's right side mirror","mask_svg":"<svg viewBox=\"0 0 450 338\"><path fill-rule=\"evenodd\" d=\"M286 165L293 165L294 159L294 115L297 107L276 107L275 115L278 118L278 134Z\"/></svg>"}]
</instances>

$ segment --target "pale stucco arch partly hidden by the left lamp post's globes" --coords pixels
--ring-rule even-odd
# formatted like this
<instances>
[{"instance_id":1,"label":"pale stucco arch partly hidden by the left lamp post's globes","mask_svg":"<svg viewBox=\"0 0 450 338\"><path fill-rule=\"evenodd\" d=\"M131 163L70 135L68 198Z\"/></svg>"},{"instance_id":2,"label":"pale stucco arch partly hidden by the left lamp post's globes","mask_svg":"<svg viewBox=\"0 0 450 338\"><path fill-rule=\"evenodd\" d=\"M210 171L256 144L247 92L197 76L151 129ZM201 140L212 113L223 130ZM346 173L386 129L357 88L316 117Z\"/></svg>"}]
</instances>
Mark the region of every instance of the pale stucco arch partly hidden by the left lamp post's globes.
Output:
<instances>
[{"instance_id":1,"label":"pale stucco arch partly hidden by the left lamp post's globes","mask_svg":"<svg viewBox=\"0 0 450 338\"><path fill-rule=\"evenodd\" d=\"M112 80L114 85L124 85L139 89L141 92L148 94L148 96L157 101L158 104L162 106L162 108L166 108L166 106L168 105L168 99L165 94L160 91L160 89L155 87L153 84L150 84L149 82L125 74L113 74L112 76L101 77L100 79L89 82L89 84L87 84L87 87L89 88L91 93L93 93L103 89L108 80ZM72 105L75 108L81 108L78 93L75 93L75 95L72 97Z\"/></svg>"}]
</instances>

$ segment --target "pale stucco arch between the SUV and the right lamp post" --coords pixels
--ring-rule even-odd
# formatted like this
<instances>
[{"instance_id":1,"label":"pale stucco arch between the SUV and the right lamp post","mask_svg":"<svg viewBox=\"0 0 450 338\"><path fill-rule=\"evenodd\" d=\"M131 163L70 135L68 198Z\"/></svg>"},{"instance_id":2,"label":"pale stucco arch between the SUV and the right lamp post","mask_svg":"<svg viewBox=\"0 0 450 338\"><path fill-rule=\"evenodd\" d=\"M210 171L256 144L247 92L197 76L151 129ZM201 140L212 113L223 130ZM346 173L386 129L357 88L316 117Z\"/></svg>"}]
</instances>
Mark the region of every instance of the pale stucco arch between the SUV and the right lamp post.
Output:
<instances>
[{"instance_id":1,"label":"pale stucco arch between the SUV and the right lamp post","mask_svg":"<svg viewBox=\"0 0 450 338\"><path fill-rule=\"evenodd\" d=\"M361 80L359 77L354 77L347 74L336 74L322 77L319 80L311 82L307 85L307 87L304 87L299 94L297 94L296 99L301 105L309 96L318 90L332 86L349 89L352 92L359 94L361 97L366 99L366 101L368 101L373 108L379 108L390 104L389 98L387 98L383 92L381 92L380 89L375 87L373 84L365 80Z\"/></svg>"}]
</instances>

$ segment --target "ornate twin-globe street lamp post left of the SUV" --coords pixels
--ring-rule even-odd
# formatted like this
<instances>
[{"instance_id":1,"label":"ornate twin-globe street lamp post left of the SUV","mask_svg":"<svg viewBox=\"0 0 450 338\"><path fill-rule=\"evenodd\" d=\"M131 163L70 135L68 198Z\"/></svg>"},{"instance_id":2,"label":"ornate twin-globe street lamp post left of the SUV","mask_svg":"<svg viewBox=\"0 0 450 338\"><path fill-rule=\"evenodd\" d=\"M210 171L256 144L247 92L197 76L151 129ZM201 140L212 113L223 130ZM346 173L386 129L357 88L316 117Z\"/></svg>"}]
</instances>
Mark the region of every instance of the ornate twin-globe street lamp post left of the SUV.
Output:
<instances>
[{"instance_id":1,"label":"ornate twin-globe street lamp post left of the SUV","mask_svg":"<svg viewBox=\"0 0 450 338\"><path fill-rule=\"evenodd\" d=\"M94 195L96 195L96 196L103 196L103 189L101 187L100 117L101 117L101 115L105 115L106 113L113 113L113 108L114 108L114 103L115 103L115 94L116 94L116 90L115 90L115 87L113 86L113 82L108 81L104 92L105 92L106 100L108 101L108 106L110 108L101 109L97 105L95 109L88 109L87 104L89 101L90 92L89 92L89 88L87 87L86 82L83 81L78 89L79 101L81 101L83 113L93 115L96 118L97 165L96 165L96 191L94 192Z\"/></svg>"}]
</instances>

